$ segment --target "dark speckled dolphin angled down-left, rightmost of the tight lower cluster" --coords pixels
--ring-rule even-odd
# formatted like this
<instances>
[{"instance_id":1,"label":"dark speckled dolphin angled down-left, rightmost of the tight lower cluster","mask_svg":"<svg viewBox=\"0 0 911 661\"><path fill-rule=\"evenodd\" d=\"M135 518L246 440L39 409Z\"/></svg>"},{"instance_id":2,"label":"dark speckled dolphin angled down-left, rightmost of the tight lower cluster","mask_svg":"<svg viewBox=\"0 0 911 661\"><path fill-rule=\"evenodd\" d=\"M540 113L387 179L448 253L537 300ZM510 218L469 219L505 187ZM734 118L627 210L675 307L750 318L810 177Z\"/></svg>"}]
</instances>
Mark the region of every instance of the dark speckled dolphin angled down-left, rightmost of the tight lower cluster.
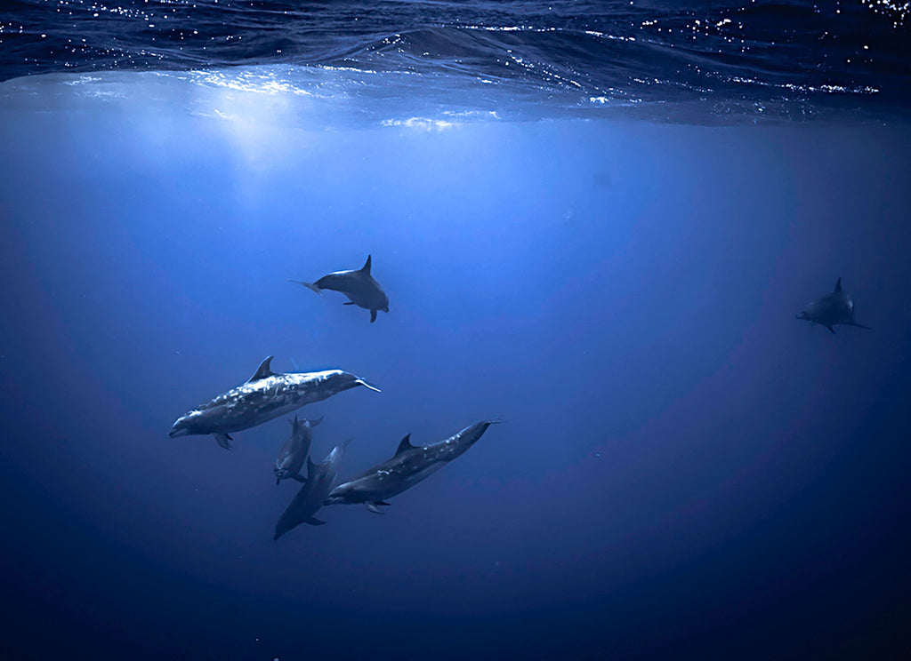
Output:
<instances>
[{"instance_id":1,"label":"dark speckled dolphin angled down-left, rightmost of the tight lower cluster","mask_svg":"<svg viewBox=\"0 0 911 661\"><path fill-rule=\"evenodd\" d=\"M378 506L389 505L385 502L386 498L401 494L405 489L433 475L475 445L487 427L498 422L501 421L484 420L432 446L411 445L409 434L399 443L394 456L350 482L336 486L323 505L363 503L371 512L382 514Z\"/></svg>"}]
</instances>

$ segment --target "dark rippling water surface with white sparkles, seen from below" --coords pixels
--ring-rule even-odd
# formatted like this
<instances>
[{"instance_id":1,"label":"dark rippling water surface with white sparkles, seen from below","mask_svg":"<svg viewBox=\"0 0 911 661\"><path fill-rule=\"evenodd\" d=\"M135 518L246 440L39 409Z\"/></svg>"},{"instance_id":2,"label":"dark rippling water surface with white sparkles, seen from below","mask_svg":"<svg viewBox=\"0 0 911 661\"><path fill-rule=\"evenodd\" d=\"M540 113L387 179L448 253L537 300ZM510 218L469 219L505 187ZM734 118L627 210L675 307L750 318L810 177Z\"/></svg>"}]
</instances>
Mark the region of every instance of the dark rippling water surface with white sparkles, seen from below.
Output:
<instances>
[{"instance_id":1,"label":"dark rippling water surface with white sparkles, seen from below","mask_svg":"<svg viewBox=\"0 0 911 661\"><path fill-rule=\"evenodd\" d=\"M0 11L0 76L282 65L310 92L451 96L491 109L707 121L903 114L907 3L242 2L16 0ZM376 74L384 74L377 92ZM248 81L249 82L249 81ZM237 85L243 85L242 77ZM487 89L489 88L489 89ZM656 104L670 105L656 109ZM535 111L532 111L535 112Z\"/></svg>"}]
</instances>

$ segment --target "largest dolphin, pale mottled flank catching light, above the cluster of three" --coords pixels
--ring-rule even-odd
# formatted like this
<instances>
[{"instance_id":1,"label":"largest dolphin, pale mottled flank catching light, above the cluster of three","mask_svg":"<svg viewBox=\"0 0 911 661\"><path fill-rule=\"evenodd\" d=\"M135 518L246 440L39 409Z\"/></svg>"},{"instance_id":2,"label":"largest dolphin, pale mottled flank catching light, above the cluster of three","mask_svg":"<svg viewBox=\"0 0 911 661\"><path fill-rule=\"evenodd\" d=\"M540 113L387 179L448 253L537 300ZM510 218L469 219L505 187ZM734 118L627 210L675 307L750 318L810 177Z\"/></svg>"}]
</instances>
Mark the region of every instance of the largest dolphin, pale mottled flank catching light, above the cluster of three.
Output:
<instances>
[{"instance_id":1,"label":"largest dolphin, pale mottled flank catching light, above the cluster of three","mask_svg":"<svg viewBox=\"0 0 911 661\"><path fill-rule=\"evenodd\" d=\"M210 399L180 416L168 436L211 434L226 450L233 449L231 432L250 429L272 418L284 416L305 404L320 402L343 390L364 386L380 389L340 369L323 372L276 374L272 356L262 361L256 373L241 386Z\"/></svg>"}]
</instances>

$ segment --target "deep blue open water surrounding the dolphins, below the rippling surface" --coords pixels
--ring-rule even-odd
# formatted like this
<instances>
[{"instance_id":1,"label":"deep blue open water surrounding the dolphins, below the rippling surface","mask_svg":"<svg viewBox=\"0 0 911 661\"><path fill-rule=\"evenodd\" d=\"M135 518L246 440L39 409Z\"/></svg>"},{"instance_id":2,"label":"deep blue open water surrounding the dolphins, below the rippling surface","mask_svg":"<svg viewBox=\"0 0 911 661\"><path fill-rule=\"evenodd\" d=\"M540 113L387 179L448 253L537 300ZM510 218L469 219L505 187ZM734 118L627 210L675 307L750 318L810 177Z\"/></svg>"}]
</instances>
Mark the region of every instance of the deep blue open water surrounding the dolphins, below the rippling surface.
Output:
<instances>
[{"instance_id":1,"label":"deep blue open water surrounding the dolphins, below the rippling surface","mask_svg":"<svg viewBox=\"0 0 911 661\"><path fill-rule=\"evenodd\" d=\"M906 644L906 128L73 122L4 124L8 656ZM367 251L375 324L286 282ZM875 330L794 319L838 275ZM383 388L302 409L344 478L507 422L274 543L286 422L167 437L269 353Z\"/></svg>"}]
</instances>

